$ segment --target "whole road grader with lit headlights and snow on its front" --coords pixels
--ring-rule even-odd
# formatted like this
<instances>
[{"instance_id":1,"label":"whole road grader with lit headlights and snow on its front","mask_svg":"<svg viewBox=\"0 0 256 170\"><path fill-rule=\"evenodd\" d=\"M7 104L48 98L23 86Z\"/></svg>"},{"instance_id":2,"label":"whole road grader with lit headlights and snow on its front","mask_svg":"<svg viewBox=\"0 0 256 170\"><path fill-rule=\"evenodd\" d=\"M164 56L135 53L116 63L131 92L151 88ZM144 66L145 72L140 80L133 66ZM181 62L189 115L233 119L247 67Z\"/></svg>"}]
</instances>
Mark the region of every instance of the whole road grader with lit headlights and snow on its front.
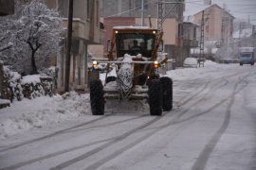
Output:
<instances>
[{"instance_id":1,"label":"whole road grader with lit headlights and snow on its front","mask_svg":"<svg viewBox=\"0 0 256 170\"><path fill-rule=\"evenodd\" d=\"M167 61L157 57L161 39L162 32L149 27L113 28L108 60L101 61L107 63L104 83L101 79L90 83L90 102L94 115L104 114L107 98L147 99L151 115L161 115L162 110L172 110L173 81L170 77L160 77L158 74L158 67ZM99 63L93 61L95 69Z\"/></svg>"}]
</instances>

